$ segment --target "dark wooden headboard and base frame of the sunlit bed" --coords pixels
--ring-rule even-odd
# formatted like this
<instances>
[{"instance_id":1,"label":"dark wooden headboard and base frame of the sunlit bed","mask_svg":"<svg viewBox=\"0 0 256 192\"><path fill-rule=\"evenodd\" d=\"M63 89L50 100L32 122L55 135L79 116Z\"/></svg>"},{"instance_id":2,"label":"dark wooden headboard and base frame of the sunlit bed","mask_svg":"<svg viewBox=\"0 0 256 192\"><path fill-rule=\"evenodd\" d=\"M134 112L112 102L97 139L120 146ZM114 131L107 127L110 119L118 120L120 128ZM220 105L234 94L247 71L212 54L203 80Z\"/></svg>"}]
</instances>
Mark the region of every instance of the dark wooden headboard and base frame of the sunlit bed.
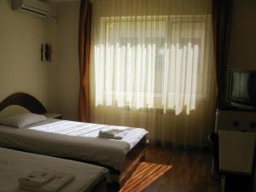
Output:
<instances>
[{"instance_id":1,"label":"dark wooden headboard and base frame of the sunlit bed","mask_svg":"<svg viewBox=\"0 0 256 192\"><path fill-rule=\"evenodd\" d=\"M0 112L11 105L18 105L23 108L26 108L32 113L46 113L46 109L44 108L44 105L38 101L34 96L31 96L26 93L17 92L15 94L12 94L5 98L3 102L0 103ZM125 182L131 177L131 174L136 170L138 164L140 161L144 160L145 158L145 146L147 137L143 137L139 143L137 143L136 146L134 146L131 151L127 154L126 162L125 162L125 170L123 172L119 172L118 170L114 169L110 166L105 166L102 164L98 164L96 162L83 160L84 163L93 164L96 166L103 166L108 168L111 175L117 177L117 181L113 183L108 183L109 189L120 189ZM17 150L20 150L19 148L14 148ZM29 151L26 151L29 152ZM76 159L73 159L76 160ZM77 160L81 161L81 160Z\"/></svg>"}]
</instances>

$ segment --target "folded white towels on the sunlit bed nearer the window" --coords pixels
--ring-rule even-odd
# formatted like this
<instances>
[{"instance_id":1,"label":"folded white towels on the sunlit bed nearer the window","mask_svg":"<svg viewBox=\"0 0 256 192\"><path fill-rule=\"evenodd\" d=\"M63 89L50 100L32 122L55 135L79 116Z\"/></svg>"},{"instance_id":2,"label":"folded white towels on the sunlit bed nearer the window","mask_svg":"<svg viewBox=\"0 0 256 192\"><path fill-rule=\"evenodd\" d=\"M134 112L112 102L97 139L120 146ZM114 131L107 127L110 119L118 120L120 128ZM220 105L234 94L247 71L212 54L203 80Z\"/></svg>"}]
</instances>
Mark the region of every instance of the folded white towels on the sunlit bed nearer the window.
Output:
<instances>
[{"instance_id":1,"label":"folded white towels on the sunlit bed nearer the window","mask_svg":"<svg viewBox=\"0 0 256 192\"><path fill-rule=\"evenodd\" d=\"M99 131L99 137L122 139L127 135L128 131L120 129L105 128Z\"/></svg>"}]
</instances>

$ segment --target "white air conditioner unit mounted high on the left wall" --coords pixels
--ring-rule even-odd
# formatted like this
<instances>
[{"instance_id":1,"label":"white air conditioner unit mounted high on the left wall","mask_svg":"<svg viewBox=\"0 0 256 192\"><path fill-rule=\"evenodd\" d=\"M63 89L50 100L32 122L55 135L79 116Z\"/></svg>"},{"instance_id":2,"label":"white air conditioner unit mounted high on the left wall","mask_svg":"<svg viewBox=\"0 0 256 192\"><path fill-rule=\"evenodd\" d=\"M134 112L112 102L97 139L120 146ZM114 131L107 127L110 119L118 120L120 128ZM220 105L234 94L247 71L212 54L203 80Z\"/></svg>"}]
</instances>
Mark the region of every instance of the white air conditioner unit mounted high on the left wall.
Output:
<instances>
[{"instance_id":1,"label":"white air conditioner unit mounted high on the left wall","mask_svg":"<svg viewBox=\"0 0 256 192\"><path fill-rule=\"evenodd\" d=\"M52 15L52 7L49 3L38 0L12 0L12 9L57 22L56 17Z\"/></svg>"}]
</instances>

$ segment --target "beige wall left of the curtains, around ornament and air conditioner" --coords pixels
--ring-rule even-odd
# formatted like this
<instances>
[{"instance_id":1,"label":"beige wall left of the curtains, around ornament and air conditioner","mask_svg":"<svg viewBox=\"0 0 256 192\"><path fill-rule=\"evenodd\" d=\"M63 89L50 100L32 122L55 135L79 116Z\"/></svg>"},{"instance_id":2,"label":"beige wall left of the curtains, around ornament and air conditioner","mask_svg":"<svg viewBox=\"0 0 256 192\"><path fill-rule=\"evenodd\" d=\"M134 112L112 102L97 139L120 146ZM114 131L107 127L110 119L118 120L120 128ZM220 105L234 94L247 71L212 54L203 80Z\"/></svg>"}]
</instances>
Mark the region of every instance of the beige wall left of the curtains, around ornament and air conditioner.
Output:
<instances>
[{"instance_id":1,"label":"beige wall left of the curtains, around ornament and air conditioner","mask_svg":"<svg viewBox=\"0 0 256 192\"><path fill-rule=\"evenodd\" d=\"M23 91L36 96L49 112L78 119L79 2L56 5L58 24L12 11L0 1L0 101ZM43 43L52 44L51 62L40 61Z\"/></svg>"}]
</instances>

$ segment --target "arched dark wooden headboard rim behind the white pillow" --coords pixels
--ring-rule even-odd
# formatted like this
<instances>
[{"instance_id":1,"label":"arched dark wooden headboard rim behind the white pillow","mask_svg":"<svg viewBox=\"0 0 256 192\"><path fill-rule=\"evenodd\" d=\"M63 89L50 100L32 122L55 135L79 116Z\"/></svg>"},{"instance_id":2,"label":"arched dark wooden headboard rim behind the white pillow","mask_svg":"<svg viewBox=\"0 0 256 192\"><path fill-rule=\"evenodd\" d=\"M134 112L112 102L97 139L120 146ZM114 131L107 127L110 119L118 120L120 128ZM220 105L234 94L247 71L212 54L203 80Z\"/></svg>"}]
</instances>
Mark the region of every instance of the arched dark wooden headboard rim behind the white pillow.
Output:
<instances>
[{"instance_id":1,"label":"arched dark wooden headboard rim behind the white pillow","mask_svg":"<svg viewBox=\"0 0 256 192\"><path fill-rule=\"evenodd\" d=\"M14 93L0 102L0 111L12 105L21 106L32 113L46 113L44 105L38 99L22 92Z\"/></svg>"}]
</instances>

